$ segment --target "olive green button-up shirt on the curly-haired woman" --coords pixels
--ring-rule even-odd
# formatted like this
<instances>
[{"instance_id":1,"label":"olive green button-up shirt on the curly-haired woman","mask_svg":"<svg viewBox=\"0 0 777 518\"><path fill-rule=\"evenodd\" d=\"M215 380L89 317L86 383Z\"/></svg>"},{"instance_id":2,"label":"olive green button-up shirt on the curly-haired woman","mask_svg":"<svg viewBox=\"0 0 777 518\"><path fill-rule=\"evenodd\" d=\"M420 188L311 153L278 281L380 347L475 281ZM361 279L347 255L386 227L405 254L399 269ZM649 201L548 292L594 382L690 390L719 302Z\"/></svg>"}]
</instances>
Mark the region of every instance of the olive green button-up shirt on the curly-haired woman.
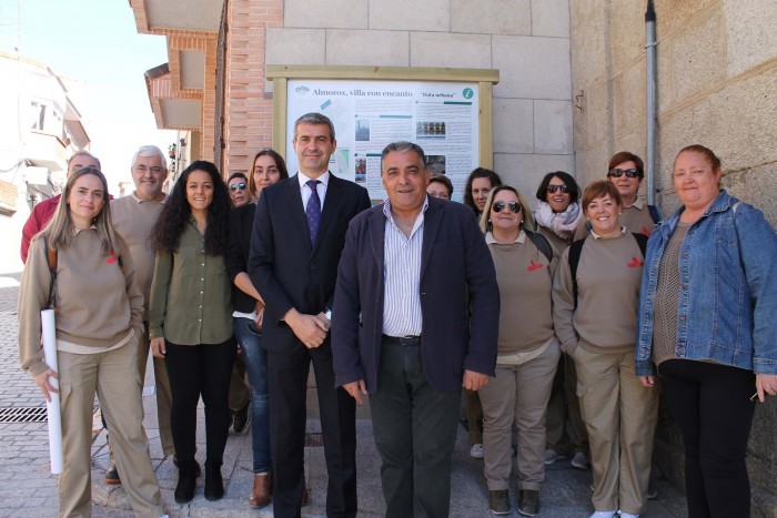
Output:
<instances>
[{"instance_id":1,"label":"olive green button-up shirt on the curly-haired woman","mask_svg":"<svg viewBox=\"0 0 777 518\"><path fill-rule=\"evenodd\" d=\"M174 253L158 253L149 305L151 338L221 344L232 336L232 285L223 255L206 255L193 220Z\"/></svg>"}]
</instances>

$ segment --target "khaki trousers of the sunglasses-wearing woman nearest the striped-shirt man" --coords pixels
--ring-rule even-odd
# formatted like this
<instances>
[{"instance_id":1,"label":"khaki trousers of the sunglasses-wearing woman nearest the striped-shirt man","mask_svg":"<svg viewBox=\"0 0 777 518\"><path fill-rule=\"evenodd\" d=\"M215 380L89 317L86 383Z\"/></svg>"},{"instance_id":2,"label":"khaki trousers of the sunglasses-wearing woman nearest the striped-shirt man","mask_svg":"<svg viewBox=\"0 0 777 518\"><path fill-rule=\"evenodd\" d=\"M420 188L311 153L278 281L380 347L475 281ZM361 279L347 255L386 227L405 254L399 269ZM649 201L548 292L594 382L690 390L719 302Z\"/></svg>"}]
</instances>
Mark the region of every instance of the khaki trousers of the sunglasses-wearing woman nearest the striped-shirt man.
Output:
<instances>
[{"instance_id":1,"label":"khaki trousers of the sunglasses-wearing woman nearest the striped-shirt man","mask_svg":"<svg viewBox=\"0 0 777 518\"><path fill-rule=\"evenodd\" d=\"M554 341L524 364L497 363L496 377L478 390L490 491L508 488L513 423L518 430L518 489L541 489L545 480L545 413L559 355L558 342Z\"/></svg>"}]
</instances>

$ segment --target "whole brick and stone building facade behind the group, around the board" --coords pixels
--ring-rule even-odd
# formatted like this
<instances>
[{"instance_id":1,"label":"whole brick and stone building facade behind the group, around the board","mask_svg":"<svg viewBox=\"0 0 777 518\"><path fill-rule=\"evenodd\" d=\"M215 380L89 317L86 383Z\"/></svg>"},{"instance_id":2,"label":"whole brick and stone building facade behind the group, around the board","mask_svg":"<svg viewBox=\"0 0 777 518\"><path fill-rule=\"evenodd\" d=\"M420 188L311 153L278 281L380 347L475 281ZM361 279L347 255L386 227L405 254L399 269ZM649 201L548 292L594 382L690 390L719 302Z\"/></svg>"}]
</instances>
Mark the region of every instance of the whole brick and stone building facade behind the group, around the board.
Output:
<instances>
[{"instance_id":1,"label":"whole brick and stone building facade behind the group, around the board","mask_svg":"<svg viewBox=\"0 0 777 518\"><path fill-rule=\"evenodd\" d=\"M497 69L493 163L529 197L542 176L585 186L608 158L645 155L646 0L131 0L140 32L168 39L148 78L160 128L191 131L192 153L224 174L272 146L269 64ZM655 196L677 207L677 151L709 146L725 185L777 224L777 2L657 0ZM283 152L283 150L279 150ZM664 415L664 414L663 414ZM777 509L777 402L750 441L754 515ZM683 484L668 416L660 470Z\"/></svg>"}]
</instances>

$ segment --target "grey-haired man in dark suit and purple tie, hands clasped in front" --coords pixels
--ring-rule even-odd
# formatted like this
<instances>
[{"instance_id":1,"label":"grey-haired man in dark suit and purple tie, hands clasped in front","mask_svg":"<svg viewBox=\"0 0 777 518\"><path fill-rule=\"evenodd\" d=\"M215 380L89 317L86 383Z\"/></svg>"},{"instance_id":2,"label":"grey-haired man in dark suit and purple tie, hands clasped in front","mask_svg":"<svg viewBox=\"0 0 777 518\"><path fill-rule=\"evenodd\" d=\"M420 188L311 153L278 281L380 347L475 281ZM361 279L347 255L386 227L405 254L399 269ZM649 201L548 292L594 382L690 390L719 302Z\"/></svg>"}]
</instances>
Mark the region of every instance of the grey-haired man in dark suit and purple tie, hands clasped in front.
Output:
<instances>
[{"instance_id":1,"label":"grey-haired man in dark suit and purple tie, hands clasped in front","mask_svg":"<svg viewBox=\"0 0 777 518\"><path fill-rule=\"evenodd\" d=\"M370 206L364 187L329 171L332 121L309 113L294 124L300 171L262 191L249 275L264 298L273 514L299 517L304 488L305 395L311 362L329 474L326 515L356 515L355 404L334 385L329 313L353 216Z\"/></svg>"}]
</instances>

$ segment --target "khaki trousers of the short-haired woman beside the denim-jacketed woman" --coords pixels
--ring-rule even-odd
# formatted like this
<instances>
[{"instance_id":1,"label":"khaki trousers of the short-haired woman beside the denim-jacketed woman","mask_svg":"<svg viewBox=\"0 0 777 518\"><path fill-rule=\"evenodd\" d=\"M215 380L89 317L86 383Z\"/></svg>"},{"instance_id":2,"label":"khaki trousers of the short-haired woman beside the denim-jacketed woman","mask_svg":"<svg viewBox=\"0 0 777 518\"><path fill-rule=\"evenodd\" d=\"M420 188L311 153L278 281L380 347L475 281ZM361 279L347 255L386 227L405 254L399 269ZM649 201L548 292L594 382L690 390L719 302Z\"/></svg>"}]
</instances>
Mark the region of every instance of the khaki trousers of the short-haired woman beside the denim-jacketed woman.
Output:
<instances>
[{"instance_id":1,"label":"khaki trousers of the short-haired woman beside the denim-jacketed woman","mask_svg":"<svg viewBox=\"0 0 777 518\"><path fill-rule=\"evenodd\" d=\"M598 354L578 346L573 358L591 444L594 508L639 515L647 504L658 392L642 386L634 353Z\"/></svg>"}]
</instances>

